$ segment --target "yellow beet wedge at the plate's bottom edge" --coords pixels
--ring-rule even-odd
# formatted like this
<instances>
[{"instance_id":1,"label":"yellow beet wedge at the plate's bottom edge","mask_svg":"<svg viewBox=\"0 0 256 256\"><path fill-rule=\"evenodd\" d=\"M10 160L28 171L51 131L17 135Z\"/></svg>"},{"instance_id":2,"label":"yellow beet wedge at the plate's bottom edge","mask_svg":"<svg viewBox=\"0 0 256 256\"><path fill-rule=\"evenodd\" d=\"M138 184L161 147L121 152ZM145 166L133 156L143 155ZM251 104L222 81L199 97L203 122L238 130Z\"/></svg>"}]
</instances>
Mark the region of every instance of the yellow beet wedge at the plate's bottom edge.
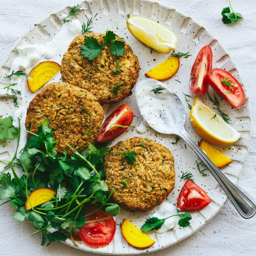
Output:
<instances>
[{"instance_id":1,"label":"yellow beet wedge at the plate's bottom edge","mask_svg":"<svg viewBox=\"0 0 256 256\"><path fill-rule=\"evenodd\" d=\"M145 248L155 243L153 239L142 233L127 219L123 220L121 231L124 239L134 247Z\"/></svg>"}]
</instances>

